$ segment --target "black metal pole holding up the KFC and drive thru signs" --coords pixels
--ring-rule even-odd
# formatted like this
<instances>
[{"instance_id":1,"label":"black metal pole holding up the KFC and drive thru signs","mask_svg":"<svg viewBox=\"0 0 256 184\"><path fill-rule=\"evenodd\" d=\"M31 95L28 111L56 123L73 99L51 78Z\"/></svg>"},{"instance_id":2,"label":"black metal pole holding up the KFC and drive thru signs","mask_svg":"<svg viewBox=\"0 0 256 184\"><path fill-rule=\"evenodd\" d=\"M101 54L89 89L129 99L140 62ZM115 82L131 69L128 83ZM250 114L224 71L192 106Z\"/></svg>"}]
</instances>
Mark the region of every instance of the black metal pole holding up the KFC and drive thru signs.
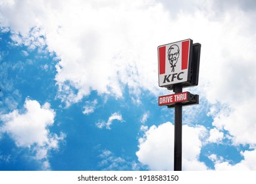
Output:
<instances>
[{"instance_id":1,"label":"black metal pole holding up the KFC and drive thru signs","mask_svg":"<svg viewBox=\"0 0 256 184\"><path fill-rule=\"evenodd\" d=\"M174 93L182 93L182 86L175 85ZM182 104L174 105L174 171L182 170Z\"/></svg>"}]
</instances>

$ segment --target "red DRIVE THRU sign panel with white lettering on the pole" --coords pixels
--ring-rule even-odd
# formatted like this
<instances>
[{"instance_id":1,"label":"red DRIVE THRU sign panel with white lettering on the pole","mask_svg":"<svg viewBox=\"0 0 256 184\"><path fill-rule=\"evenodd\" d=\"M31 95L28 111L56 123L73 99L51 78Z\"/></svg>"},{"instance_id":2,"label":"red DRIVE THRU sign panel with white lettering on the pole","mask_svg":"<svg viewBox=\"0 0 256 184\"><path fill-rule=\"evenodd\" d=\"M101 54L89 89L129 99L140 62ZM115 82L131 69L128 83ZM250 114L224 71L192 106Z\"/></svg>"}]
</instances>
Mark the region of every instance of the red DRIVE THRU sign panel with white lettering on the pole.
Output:
<instances>
[{"instance_id":1,"label":"red DRIVE THRU sign panel with white lettering on the pole","mask_svg":"<svg viewBox=\"0 0 256 184\"><path fill-rule=\"evenodd\" d=\"M182 103L188 101L188 92L175 93L172 95L161 96L158 99L159 106Z\"/></svg>"}]
</instances>

